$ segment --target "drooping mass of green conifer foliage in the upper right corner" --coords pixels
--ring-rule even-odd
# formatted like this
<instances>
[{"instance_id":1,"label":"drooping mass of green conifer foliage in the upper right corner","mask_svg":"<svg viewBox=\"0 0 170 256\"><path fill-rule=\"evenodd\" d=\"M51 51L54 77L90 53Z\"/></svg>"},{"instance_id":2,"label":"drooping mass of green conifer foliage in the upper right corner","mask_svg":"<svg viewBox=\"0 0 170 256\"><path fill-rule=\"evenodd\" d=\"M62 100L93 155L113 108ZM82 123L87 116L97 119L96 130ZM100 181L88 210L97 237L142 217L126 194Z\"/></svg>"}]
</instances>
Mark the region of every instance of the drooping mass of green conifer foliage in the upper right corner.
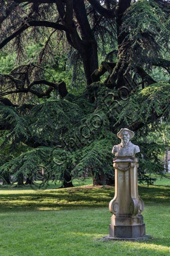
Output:
<instances>
[{"instance_id":1,"label":"drooping mass of green conifer foliage in the upper right corner","mask_svg":"<svg viewBox=\"0 0 170 256\"><path fill-rule=\"evenodd\" d=\"M170 29L164 9L154 0L139 0L124 13L121 34L126 34L119 61L134 70L137 66L151 68L153 62L170 52ZM127 70L128 70L127 69Z\"/></svg>"}]
</instances>

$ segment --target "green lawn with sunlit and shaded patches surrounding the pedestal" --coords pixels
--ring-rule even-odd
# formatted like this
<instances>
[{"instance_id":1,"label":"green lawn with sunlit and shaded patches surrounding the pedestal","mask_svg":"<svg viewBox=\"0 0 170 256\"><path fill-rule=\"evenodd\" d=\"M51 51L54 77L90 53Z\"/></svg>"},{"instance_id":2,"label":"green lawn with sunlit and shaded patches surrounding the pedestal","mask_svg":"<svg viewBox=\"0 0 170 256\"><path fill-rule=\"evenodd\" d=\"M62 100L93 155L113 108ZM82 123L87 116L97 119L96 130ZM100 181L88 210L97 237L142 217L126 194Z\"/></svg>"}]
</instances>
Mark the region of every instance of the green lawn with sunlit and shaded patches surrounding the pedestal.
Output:
<instances>
[{"instance_id":1,"label":"green lawn with sunlit and shaded patches surrounding the pedestal","mask_svg":"<svg viewBox=\"0 0 170 256\"><path fill-rule=\"evenodd\" d=\"M140 185L139 193L145 201L146 232L153 239L103 242L113 187L1 189L0 256L168 256L170 179Z\"/></svg>"}]
</instances>

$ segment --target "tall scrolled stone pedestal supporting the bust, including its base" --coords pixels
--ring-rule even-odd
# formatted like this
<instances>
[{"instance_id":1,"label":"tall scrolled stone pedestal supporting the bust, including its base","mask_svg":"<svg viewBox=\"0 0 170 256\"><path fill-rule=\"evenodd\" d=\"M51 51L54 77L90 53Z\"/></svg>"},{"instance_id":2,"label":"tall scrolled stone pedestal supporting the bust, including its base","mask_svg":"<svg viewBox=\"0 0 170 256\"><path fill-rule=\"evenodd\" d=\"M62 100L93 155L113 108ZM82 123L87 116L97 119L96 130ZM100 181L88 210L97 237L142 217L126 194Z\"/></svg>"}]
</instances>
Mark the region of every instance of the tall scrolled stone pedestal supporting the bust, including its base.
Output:
<instances>
[{"instance_id":1,"label":"tall scrolled stone pedestal supporting the bust, including its base","mask_svg":"<svg viewBox=\"0 0 170 256\"><path fill-rule=\"evenodd\" d=\"M141 212L144 202L138 193L138 158L118 156L113 160L115 168L115 196L109 203L113 213L109 237L140 238L145 236L145 224Z\"/></svg>"}]
</instances>

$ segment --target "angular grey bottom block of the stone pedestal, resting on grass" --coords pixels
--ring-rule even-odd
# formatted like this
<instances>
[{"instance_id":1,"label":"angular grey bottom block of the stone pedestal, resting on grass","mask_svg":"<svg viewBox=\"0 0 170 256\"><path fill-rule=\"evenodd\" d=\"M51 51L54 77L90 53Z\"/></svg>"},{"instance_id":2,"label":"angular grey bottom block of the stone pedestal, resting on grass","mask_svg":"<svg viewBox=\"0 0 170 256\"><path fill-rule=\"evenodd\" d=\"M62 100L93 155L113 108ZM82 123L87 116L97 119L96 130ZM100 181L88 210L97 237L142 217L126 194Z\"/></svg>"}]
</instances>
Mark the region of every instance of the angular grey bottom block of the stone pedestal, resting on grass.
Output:
<instances>
[{"instance_id":1,"label":"angular grey bottom block of the stone pedestal, resting on grass","mask_svg":"<svg viewBox=\"0 0 170 256\"><path fill-rule=\"evenodd\" d=\"M145 235L145 224L141 225L109 225L109 237L140 238Z\"/></svg>"}]
</instances>

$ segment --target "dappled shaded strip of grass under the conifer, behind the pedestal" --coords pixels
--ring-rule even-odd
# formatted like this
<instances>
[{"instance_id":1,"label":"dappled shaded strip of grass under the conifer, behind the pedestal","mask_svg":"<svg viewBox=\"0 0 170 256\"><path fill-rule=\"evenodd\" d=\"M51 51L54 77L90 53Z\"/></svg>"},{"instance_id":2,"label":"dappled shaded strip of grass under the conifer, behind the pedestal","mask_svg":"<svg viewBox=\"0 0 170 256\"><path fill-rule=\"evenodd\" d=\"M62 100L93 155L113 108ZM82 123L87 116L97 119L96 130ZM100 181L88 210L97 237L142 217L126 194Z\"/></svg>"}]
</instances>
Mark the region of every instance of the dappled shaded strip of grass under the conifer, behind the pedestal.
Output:
<instances>
[{"instance_id":1,"label":"dappled shaded strip of grass under the conifer, behind the pedestal","mask_svg":"<svg viewBox=\"0 0 170 256\"><path fill-rule=\"evenodd\" d=\"M3 210L59 210L75 208L108 207L114 196L114 188L73 187L46 190L0 191L0 208ZM170 187L139 186L139 194L145 204L170 204Z\"/></svg>"}]
</instances>

